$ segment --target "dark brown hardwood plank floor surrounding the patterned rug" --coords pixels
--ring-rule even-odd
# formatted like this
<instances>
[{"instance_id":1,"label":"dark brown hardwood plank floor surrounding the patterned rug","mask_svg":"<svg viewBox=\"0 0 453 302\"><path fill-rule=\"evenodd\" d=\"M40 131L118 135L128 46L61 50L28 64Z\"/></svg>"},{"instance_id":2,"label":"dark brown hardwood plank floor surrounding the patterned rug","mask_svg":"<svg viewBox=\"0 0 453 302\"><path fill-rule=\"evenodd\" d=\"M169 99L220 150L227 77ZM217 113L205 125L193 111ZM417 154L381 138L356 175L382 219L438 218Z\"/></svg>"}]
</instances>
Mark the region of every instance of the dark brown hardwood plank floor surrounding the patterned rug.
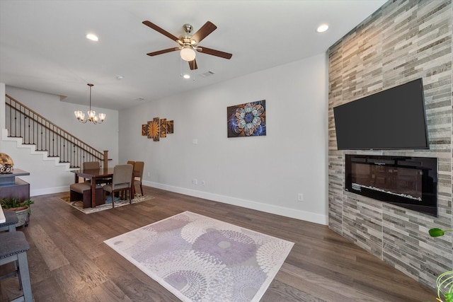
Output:
<instances>
[{"instance_id":1,"label":"dark brown hardwood plank floor surrounding the patterned rug","mask_svg":"<svg viewBox=\"0 0 453 302\"><path fill-rule=\"evenodd\" d=\"M434 291L316 223L151 187L154 199L84 214L59 197L33 197L28 238L35 301L179 301L103 240L193 211L271 236L294 247L261 301L435 301ZM1 244L1 243L0 243ZM0 267L0 273L11 267ZM1 301L20 294L17 278L0 282Z\"/></svg>"}]
</instances>

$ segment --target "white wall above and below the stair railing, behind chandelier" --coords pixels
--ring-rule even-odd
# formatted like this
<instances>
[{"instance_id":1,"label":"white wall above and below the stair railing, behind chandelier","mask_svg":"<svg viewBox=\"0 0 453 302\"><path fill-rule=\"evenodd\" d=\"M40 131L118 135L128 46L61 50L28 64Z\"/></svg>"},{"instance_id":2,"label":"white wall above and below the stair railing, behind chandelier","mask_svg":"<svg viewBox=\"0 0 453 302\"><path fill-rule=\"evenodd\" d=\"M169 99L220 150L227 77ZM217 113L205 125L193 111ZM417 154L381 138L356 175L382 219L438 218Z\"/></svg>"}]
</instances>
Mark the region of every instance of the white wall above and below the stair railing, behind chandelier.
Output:
<instances>
[{"instance_id":1,"label":"white wall above and below the stair railing, behind chandelier","mask_svg":"<svg viewBox=\"0 0 453 302\"><path fill-rule=\"evenodd\" d=\"M3 88L2 88L3 87ZM21 88L6 86L0 83L0 129L4 127L4 95L10 95L31 110L38 112L51 122L59 125L67 132L79 137L100 151L108 150L108 157L112 159L108 165L118 163L118 112L105 110L107 118L103 124L81 124L74 117L74 110L88 110L88 106L64 103L58 95L28 91ZM3 90L2 90L3 89ZM98 108L93 108L98 111ZM3 118L1 118L3 117ZM2 131L6 139L6 131ZM50 194L55 192L69 192L69 185L74 182L74 175L69 172L69 165L60 165L55 158L45 158L42 152L35 152L30 146L21 146L16 140L0 140L0 152L7 153L13 158L14 166L30 172L30 175L21 177L30 183L30 195Z\"/></svg>"}]
</instances>

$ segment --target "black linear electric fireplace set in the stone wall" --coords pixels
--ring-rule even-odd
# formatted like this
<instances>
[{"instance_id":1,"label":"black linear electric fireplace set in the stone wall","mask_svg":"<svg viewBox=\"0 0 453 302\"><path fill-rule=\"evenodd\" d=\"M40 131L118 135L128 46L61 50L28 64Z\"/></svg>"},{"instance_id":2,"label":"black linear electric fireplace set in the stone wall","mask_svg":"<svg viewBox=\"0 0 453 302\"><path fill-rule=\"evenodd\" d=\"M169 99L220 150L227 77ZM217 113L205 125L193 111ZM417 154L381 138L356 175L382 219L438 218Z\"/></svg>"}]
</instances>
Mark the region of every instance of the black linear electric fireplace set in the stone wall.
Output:
<instances>
[{"instance_id":1,"label":"black linear electric fireplace set in the stone wall","mask_svg":"<svg viewBox=\"0 0 453 302\"><path fill-rule=\"evenodd\" d=\"M437 217L437 158L346 154L345 190Z\"/></svg>"}]
</instances>

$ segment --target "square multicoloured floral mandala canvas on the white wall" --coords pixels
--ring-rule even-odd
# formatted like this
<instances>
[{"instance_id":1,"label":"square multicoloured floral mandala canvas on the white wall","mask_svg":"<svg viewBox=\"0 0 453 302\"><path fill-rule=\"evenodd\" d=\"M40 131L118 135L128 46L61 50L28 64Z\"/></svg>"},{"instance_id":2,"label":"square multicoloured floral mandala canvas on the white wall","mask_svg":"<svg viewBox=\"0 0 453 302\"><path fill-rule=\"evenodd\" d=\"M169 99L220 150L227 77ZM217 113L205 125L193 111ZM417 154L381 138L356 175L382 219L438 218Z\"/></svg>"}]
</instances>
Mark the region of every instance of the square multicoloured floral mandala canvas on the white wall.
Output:
<instances>
[{"instance_id":1,"label":"square multicoloured floral mandala canvas on the white wall","mask_svg":"<svg viewBox=\"0 0 453 302\"><path fill-rule=\"evenodd\" d=\"M228 137L266 135L266 101L244 103L226 108Z\"/></svg>"}]
</instances>

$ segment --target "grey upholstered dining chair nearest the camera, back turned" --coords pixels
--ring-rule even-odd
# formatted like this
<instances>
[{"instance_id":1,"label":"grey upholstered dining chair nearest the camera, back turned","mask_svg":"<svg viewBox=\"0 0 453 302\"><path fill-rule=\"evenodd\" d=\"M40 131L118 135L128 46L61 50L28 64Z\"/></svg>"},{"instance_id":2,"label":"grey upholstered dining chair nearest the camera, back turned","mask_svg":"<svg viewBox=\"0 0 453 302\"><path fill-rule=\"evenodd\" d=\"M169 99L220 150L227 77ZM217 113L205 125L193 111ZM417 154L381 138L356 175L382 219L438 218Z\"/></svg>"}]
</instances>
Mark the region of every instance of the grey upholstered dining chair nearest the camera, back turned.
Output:
<instances>
[{"instance_id":1,"label":"grey upholstered dining chair nearest the camera, back turned","mask_svg":"<svg viewBox=\"0 0 453 302\"><path fill-rule=\"evenodd\" d=\"M112 183L109 185L103 186L104 196L103 200L105 201L105 195L107 192L110 192L112 197L112 207L115 207L115 192L128 192L129 193L129 203L132 204L131 198L131 187L132 187L132 165L115 165L113 167L113 178Z\"/></svg>"}]
</instances>

